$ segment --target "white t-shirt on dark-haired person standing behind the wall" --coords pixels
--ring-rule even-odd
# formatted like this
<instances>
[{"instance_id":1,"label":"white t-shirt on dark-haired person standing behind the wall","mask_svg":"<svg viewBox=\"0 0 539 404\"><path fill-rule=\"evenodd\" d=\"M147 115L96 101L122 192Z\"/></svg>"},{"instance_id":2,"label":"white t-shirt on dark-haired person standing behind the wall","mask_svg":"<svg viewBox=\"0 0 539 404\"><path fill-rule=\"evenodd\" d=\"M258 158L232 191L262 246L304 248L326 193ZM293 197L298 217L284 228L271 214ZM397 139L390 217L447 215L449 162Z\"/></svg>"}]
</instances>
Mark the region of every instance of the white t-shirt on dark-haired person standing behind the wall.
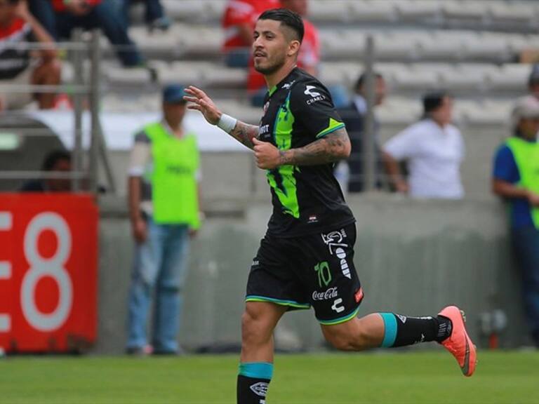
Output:
<instances>
[{"instance_id":1,"label":"white t-shirt on dark-haired person standing behind the wall","mask_svg":"<svg viewBox=\"0 0 539 404\"><path fill-rule=\"evenodd\" d=\"M460 199L463 137L453 125L441 128L432 119L408 126L383 147L394 159L407 160L410 195L415 198Z\"/></svg>"}]
</instances>

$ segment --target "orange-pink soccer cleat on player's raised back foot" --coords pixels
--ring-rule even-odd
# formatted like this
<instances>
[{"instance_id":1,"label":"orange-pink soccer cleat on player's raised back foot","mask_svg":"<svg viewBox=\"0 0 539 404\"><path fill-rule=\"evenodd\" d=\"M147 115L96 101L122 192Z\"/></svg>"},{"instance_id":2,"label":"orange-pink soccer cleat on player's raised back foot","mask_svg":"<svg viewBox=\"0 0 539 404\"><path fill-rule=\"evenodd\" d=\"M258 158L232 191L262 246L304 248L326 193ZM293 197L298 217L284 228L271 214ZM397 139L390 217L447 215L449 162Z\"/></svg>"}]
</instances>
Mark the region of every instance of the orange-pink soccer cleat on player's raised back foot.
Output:
<instances>
[{"instance_id":1,"label":"orange-pink soccer cleat on player's raised back foot","mask_svg":"<svg viewBox=\"0 0 539 404\"><path fill-rule=\"evenodd\" d=\"M453 323L451 335L444 339L441 344L453 354L460 366L460 370L463 371L463 375L472 376L477 363L477 352L472 339L466 332L464 311L456 306L448 306L440 311L438 315L449 318Z\"/></svg>"}]
</instances>

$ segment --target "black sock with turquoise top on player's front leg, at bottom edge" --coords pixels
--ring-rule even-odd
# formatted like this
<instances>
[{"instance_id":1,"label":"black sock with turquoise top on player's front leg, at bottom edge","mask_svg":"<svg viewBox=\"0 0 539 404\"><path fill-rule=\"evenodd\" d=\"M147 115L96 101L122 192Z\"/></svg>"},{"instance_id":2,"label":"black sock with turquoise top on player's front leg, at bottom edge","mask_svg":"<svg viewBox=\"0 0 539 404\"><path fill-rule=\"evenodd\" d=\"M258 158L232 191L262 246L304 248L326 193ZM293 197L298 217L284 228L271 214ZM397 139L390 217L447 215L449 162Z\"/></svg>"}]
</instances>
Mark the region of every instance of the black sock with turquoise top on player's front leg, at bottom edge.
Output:
<instances>
[{"instance_id":1,"label":"black sock with turquoise top on player's front leg, at bottom edge","mask_svg":"<svg viewBox=\"0 0 539 404\"><path fill-rule=\"evenodd\" d=\"M265 404L267 387L272 379L272 374L272 363L240 363L237 404Z\"/></svg>"}]
</instances>

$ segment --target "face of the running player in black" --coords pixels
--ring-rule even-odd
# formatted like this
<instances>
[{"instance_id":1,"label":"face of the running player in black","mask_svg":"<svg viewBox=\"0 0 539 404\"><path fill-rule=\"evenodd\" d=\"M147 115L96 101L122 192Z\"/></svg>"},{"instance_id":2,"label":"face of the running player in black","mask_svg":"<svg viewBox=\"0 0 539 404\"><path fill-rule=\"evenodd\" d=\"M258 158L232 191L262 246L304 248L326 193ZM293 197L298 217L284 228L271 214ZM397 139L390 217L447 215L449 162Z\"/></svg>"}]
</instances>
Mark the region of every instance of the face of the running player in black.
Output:
<instances>
[{"instance_id":1,"label":"face of the running player in black","mask_svg":"<svg viewBox=\"0 0 539 404\"><path fill-rule=\"evenodd\" d=\"M255 70L266 75L277 72L286 61L289 48L281 22L258 20L253 39Z\"/></svg>"}]
</instances>

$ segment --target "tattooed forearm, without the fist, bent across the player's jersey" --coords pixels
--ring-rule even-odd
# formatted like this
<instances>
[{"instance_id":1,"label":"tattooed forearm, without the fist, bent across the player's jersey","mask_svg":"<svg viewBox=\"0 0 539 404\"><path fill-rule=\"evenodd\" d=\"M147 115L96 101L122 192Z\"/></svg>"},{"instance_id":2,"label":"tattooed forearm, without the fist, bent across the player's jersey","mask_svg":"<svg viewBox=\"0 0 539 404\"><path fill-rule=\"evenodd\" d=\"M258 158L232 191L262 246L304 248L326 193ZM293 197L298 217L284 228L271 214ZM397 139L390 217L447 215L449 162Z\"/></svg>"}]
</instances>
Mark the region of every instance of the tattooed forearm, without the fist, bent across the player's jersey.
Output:
<instances>
[{"instance_id":1,"label":"tattooed forearm, without the fist, bent across the player's jersey","mask_svg":"<svg viewBox=\"0 0 539 404\"><path fill-rule=\"evenodd\" d=\"M298 149L281 150L281 164L316 166L346 159L350 154L350 139L345 128Z\"/></svg>"}]
</instances>

